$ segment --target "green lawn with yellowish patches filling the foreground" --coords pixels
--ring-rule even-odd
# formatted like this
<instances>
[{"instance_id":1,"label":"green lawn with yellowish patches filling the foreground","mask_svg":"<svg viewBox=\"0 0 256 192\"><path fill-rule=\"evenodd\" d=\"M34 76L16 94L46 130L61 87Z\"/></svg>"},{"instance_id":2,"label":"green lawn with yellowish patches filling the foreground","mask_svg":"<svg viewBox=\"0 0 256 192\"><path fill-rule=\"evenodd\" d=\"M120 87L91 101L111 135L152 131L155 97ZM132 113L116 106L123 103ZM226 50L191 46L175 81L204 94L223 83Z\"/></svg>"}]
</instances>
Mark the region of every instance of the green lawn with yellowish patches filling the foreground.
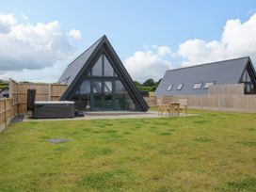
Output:
<instances>
[{"instance_id":1,"label":"green lawn with yellowish patches filling the foreground","mask_svg":"<svg viewBox=\"0 0 256 192\"><path fill-rule=\"evenodd\" d=\"M256 191L256 114L192 112L13 124L0 134L0 191Z\"/></svg>"}]
</instances>

